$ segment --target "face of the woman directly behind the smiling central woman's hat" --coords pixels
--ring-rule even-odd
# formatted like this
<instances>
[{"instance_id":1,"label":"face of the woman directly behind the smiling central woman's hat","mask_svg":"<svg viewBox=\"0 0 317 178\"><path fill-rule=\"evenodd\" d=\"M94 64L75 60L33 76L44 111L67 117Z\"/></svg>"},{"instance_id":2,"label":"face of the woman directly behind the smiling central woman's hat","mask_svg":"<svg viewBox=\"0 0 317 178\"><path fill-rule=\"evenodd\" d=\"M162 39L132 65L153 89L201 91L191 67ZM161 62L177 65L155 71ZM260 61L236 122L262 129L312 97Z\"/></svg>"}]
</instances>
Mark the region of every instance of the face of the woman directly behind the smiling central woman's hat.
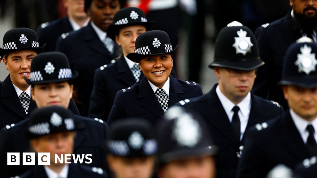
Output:
<instances>
[{"instance_id":1,"label":"face of the woman directly behind the smiling central woman's hat","mask_svg":"<svg viewBox=\"0 0 317 178\"><path fill-rule=\"evenodd\" d=\"M122 52L125 56L134 52L135 39L144 32L146 32L146 28L143 25L134 25L120 29L119 35L116 35L115 39L117 44L122 47Z\"/></svg>"}]
</instances>

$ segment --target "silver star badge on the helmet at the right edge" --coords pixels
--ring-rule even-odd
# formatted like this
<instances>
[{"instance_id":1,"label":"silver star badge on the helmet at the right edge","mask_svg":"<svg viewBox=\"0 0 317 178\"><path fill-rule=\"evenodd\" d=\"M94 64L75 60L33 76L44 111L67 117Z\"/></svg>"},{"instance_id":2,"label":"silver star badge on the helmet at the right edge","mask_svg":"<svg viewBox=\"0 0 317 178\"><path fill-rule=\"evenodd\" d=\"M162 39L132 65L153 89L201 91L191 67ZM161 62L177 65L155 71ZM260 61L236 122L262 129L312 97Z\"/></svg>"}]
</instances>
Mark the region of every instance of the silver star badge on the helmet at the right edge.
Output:
<instances>
[{"instance_id":1,"label":"silver star badge on the helmet at the right edge","mask_svg":"<svg viewBox=\"0 0 317 178\"><path fill-rule=\"evenodd\" d=\"M301 54L297 54L297 60L294 64L298 67L298 73L305 72L309 75L310 72L316 71L315 53L311 53L312 48L306 44L300 50Z\"/></svg>"}]
</instances>

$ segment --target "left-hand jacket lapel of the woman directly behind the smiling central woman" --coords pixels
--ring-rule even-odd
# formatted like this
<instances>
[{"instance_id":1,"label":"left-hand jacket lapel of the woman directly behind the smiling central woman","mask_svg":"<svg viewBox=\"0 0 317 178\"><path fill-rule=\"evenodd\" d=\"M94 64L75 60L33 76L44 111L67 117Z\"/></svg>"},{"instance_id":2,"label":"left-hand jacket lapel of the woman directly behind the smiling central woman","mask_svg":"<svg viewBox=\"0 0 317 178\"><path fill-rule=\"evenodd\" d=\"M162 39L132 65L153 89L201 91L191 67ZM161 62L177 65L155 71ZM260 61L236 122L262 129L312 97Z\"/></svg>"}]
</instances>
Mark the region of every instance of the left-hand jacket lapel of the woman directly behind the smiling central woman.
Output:
<instances>
[{"instance_id":1,"label":"left-hand jacket lapel of the woman directly behind the smiling central woman","mask_svg":"<svg viewBox=\"0 0 317 178\"><path fill-rule=\"evenodd\" d=\"M117 73L119 79L126 83L128 86L132 86L134 83L136 83L129 66L123 57L123 54L118 60Z\"/></svg>"}]
</instances>

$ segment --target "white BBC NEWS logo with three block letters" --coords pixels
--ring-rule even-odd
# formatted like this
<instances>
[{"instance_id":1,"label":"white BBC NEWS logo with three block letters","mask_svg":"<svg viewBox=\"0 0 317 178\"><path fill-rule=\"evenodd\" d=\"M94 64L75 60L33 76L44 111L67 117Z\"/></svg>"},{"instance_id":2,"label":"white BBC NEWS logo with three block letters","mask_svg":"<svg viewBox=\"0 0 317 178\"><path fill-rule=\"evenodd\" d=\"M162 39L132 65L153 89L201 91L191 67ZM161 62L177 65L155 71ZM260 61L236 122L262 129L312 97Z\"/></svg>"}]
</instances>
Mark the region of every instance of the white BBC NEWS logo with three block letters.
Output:
<instances>
[{"instance_id":1,"label":"white BBC NEWS logo with three block letters","mask_svg":"<svg viewBox=\"0 0 317 178\"><path fill-rule=\"evenodd\" d=\"M7 165L20 165L20 153L7 153ZM71 163L71 159L73 158L73 162L75 164L82 164L85 160L86 164L90 164L93 162L91 159L91 154L62 154L58 156L55 154L54 162L57 163ZM22 165L35 165L35 153L22 153ZM38 165L50 165L51 164L51 153L37 153L37 164Z\"/></svg>"}]
</instances>

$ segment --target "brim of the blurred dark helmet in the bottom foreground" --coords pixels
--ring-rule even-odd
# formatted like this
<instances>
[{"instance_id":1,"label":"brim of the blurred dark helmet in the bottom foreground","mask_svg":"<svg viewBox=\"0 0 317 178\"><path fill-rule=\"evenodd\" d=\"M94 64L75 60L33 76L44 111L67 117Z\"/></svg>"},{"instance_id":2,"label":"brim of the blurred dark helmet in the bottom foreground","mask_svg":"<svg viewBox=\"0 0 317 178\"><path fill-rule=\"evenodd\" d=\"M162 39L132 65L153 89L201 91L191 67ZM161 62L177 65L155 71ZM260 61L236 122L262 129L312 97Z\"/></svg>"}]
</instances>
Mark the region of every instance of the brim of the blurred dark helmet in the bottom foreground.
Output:
<instances>
[{"instance_id":1,"label":"brim of the blurred dark helmet in the bottom foreground","mask_svg":"<svg viewBox=\"0 0 317 178\"><path fill-rule=\"evenodd\" d=\"M200 149L186 149L186 150L177 150L164 153L159 156L160 164L165 164L171 161L186 159L191 157L202 157L202 156L213 156L218 152L218 147L215 145L203 147Z\"/></svg>"}]
</instances>

